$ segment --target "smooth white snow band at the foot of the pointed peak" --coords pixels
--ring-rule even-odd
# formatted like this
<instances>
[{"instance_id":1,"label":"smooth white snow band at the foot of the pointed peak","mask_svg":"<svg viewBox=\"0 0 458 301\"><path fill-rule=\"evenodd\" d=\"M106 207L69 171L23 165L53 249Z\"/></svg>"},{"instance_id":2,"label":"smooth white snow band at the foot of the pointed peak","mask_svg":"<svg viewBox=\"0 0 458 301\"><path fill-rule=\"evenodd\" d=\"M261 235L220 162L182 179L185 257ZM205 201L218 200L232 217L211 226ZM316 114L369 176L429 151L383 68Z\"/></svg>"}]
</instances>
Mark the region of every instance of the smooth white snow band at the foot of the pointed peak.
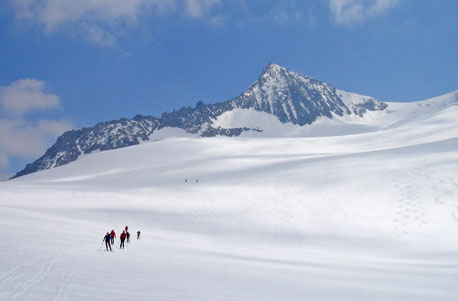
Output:
<instances>
[{"instance_id":1,"label":"smooth white snow band at the foot of the pointed peak","mask_svg":"<svg viewBox=\"0 0 458 301\"><path fill-rule=\"evenodd\" d=\"M358 105L372 99L355 93L337 90L346 105ZM428 122L435 114L450 107L458 106L458 91L436 98L411 102L386 102L385 110L367 111L364 115L333 115L332 118L318 117L310 125L299 126L282 123L271 114L254 109L234 109L212 120L214 127L258 128L259 132L245 132L241 136L250 137L322 137L341 136L388 130L401 125L416 126L418 122Z\"/></svg>"}]
</instances>

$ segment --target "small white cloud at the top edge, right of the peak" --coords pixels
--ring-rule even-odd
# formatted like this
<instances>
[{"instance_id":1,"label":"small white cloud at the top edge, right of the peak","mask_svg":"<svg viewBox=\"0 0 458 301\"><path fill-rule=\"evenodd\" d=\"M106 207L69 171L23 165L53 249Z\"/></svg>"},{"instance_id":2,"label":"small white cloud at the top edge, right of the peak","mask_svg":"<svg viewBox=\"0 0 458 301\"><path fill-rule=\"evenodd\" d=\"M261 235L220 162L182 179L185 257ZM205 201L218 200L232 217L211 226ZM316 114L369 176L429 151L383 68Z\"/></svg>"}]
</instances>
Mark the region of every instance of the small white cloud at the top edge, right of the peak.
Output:
<instances>
[{"instance_id":1,"label":"small white cloud at the top edge, right of the peak","mask_svg":"<svg viewBox=\"0 0 458 301\"><path fill-rule=\"evenodd\" d=\"M352 25L383 14L400 2L401 0L329 0L329 8L334 23Z\"/></svg>"}]
</instances>

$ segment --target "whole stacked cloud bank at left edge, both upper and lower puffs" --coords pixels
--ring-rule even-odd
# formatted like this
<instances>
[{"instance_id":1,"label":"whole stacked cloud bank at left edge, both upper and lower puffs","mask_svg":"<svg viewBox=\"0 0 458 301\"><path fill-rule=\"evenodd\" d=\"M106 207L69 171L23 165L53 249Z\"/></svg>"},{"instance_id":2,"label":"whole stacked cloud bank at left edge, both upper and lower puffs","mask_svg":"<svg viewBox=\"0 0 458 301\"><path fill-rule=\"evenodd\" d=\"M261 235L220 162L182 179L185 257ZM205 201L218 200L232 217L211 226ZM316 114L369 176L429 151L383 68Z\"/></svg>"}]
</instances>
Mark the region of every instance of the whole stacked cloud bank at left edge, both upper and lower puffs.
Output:
<instances>
[{"instance_id":1,"label":"whole stacked cloud bank at left edge, both upper and lower puffs","mask_svg":"<svg viewBox=\"0 0 458 301\"><path fill-rule=\"evenodd\" d=\"M55 138L72 125L65 120L30 119L27 112L60 106L57 95L44 90L45 83L21 79L0 87L0 171L12 157L31 159L42 155Z\"/></svg>"}]
</instances>

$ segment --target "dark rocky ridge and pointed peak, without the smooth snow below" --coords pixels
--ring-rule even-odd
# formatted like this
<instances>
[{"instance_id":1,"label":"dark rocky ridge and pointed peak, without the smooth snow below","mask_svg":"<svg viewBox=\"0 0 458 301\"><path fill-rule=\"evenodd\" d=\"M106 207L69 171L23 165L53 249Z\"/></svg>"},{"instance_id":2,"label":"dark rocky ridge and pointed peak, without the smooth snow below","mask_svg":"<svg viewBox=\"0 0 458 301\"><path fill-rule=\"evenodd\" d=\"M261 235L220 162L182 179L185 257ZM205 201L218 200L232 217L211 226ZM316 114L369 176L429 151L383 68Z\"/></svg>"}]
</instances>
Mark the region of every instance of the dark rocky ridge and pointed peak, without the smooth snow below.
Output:
<instances>
[{"instance_id":1,"label":"dark rocky ridge and pointed peak, without the smooth snow below","mask_svg":"<svg viewBox=\"0 0 458 301\"><path fill-rule=\"evenodd\" d=\"M340 94L340 95L339 95ZM235 109L252 109L278 118L281 123L305 126L320 117L364 116L368 111L381 111L387 105L372 97L336 90L329 84L305 75L290 72L270 63L259 79L243 94L229 101L196 107L185 107L161 118L137 115L99 123L94 127L64 133L48 151L14 178L49 169L77 160L81 155L136 145L164 128L180 128L202 137L239 136L247 132L262 132L259 127L234 125L215 126L214 121Z\"/></svg>"}]
</instances>

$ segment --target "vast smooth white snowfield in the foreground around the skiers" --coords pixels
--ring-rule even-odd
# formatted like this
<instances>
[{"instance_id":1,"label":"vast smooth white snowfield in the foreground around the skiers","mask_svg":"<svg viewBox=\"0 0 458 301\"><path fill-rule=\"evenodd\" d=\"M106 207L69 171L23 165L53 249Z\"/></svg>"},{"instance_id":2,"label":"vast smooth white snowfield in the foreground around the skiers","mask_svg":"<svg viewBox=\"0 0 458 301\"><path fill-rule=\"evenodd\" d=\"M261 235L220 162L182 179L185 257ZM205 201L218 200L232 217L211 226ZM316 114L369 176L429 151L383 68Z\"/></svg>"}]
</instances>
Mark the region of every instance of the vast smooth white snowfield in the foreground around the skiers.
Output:
<instances>
[{"instance_id":1,"label":"vast smooth white snowfield in the foreground around the skiers","mask_svg":"<svg viewBox=\"0 0 458 301\"><path fill-rule=\"evenodd\" d=\"M0 183L0 299L457 300L457 102L162 137Z\"/></svg>"}]
</instances>

